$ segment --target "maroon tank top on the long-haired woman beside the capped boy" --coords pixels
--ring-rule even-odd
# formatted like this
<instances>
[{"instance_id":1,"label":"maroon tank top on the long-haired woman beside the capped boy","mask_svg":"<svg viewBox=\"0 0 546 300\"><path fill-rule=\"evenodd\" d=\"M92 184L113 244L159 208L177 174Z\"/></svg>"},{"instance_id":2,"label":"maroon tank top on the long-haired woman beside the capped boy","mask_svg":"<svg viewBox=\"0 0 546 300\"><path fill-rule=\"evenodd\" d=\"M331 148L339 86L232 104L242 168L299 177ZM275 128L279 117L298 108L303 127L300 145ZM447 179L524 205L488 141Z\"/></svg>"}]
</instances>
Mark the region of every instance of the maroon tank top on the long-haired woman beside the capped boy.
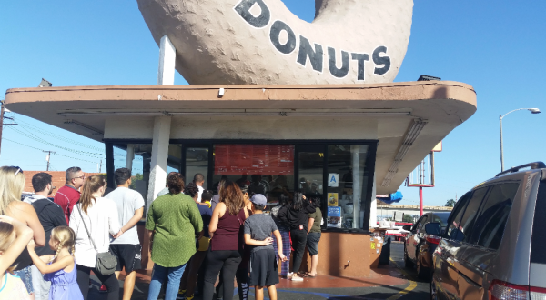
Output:
<instances>
[{"instance_id":1,"label":"maroon tank top on the long-haired woman beside the capped boy","mask_svg":"<svg viewBox=\"0 0 546 300\"><path fill-rule=\"evenodd\" d=\"M237 215L226 213L218 220L217 230L210 240L210 249L241 250L243 225L245 224L245 210L241 208Z\"/></svg>"}]
</instances>

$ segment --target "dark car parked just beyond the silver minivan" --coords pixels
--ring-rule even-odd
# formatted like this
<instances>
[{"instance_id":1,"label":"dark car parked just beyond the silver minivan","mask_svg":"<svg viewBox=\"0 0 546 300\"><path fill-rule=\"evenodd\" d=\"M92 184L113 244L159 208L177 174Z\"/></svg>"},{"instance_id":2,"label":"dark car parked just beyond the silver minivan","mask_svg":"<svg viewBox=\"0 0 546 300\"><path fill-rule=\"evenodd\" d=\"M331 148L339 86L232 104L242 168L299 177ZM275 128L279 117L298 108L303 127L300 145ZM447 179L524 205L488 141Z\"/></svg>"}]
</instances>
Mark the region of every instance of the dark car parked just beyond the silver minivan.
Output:
<instances>
[{"instance_id":1,"label":"dark car parked just beyond the silver minivan","mask_svg":"<svg viewBox=\"0 0 546 300\"><path fill-rule=\"evenodd\" d=\"M404 243L404 262L408 267L415 266L421 279L429 279L432 254L440 242L439 235L445 230L449 216L449 212L427 213L414 225L402 227L410 231Z\"/></svg>"}]
</instances>

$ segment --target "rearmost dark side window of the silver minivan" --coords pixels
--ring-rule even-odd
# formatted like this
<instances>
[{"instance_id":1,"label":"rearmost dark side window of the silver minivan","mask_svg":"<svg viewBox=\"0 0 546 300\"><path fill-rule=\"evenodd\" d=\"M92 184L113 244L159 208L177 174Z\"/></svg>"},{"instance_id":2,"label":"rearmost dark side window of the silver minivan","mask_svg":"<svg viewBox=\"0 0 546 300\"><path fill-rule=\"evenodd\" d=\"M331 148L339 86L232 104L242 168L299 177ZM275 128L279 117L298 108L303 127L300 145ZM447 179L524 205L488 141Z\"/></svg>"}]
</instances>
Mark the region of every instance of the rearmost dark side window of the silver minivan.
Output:
<instances>
[{"instance_id":1,"label":"rearmost dark side window of the silver minivan","mask_svg":"<svg viewBox=\"0 0 546 300\"><path fill-rule=\"evenodd\" d=\"M519 186L518 183L507 183L490 187L490 193L480 209L480 215L476 218L474 225L476 229L468 242L490 249L499 249L504 227Z\"/></svg>"}]
</instances>

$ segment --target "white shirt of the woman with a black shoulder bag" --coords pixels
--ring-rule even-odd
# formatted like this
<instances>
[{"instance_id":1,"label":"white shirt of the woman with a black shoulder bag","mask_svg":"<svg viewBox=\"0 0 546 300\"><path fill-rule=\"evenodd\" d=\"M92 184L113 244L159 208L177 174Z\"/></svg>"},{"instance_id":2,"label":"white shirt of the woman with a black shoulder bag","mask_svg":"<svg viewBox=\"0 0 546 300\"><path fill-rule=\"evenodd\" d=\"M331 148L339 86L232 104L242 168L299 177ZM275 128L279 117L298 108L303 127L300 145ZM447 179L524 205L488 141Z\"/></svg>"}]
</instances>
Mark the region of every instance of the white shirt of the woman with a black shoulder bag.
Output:
<instances>
[{"instance_id":1,"label":"white shirt of the woman with a black shoulder bag","mask_svg":"<svg viewBox=\"0 0 546 300\"><path fill-rule=\"evenodd\" d=\"M110 235L116 235L121 228L117 220L117 205L110 199L96 198L96 202L87 208L87 214L81 211L83 222L78 208L81 209L80 203L74 205L70 215L70 228L76 233L76 264L95 267L96 251L83 222L87 225L98 253L106 252L110 247Z\"/></svg>"}]
</instances>

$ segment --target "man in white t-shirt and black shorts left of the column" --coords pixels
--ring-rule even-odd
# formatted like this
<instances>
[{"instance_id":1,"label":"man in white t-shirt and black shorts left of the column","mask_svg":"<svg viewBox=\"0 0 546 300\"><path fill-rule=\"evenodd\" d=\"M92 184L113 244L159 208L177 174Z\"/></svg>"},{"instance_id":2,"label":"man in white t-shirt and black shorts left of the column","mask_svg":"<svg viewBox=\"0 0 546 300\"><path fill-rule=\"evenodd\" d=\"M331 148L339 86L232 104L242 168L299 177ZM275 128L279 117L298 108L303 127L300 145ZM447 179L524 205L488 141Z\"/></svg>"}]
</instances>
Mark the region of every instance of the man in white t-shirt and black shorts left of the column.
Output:
<instances>
[{"instance_id":1,"label":"man in white t-shirt and black shorts left of the column","mask_svg":"<svg viewBox=\"0 0 546 300\"><path fill-rule=\"evenodd\" d=\"M116 277L125 267L126 279L123 284L123 300L131 299L135 289L136 272L141 268L142 246L138 240L136 223L142 219L144 199L140 193L129 189L131 185L131 170L117 169L114 178L117 188L106 195L117 205L119 224L122 225L116 240L110 243L110 252L117 257Z\"/></svg>"}]
</instances>

